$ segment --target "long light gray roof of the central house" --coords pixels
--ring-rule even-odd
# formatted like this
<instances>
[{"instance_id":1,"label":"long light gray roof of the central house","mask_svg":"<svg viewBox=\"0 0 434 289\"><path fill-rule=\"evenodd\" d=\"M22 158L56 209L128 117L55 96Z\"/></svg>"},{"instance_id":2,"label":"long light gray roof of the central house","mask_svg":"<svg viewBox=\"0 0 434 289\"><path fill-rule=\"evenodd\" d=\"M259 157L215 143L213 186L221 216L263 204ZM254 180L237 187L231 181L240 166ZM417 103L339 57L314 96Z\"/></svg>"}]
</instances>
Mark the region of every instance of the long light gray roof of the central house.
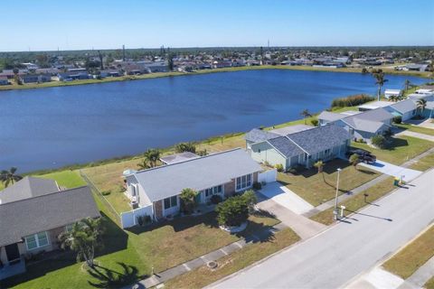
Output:
<instances>
[{"instance_id":1,"label":"long light gray roof of the central house","mask_svg":"<svg viewBox=\"0 0 434 289\"><path fill-rule=\"evenodd\" d=\"M183 189L203 190L231 182L241 175L262 171L241 148L209 154L182 163L167 164L134 174L150 201L178 195Z\"/></svg>"}]
</instances>

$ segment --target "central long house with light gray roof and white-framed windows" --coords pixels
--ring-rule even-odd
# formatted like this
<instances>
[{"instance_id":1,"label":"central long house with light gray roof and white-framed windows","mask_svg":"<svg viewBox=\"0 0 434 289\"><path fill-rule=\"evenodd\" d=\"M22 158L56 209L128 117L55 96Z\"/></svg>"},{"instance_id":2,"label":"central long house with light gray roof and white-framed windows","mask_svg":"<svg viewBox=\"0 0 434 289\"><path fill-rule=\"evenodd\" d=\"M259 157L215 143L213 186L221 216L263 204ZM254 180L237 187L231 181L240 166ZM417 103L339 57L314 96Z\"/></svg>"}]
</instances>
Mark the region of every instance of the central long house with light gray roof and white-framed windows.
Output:
<instances>
[{"instance_id":1,"label":"central long house with light gray roof and white-framed windows","mask_svg":"<svg viewBox=\"0 0 434 289\"><path fill-rule=\"evenodd\" d=\"M184 189L198 191L196 202L207 203L212 195L224 199L250 189L261 171L259 163L237 148L127 175L126 194L157 220L179 212Z\"/></svg>"}]
</instances>

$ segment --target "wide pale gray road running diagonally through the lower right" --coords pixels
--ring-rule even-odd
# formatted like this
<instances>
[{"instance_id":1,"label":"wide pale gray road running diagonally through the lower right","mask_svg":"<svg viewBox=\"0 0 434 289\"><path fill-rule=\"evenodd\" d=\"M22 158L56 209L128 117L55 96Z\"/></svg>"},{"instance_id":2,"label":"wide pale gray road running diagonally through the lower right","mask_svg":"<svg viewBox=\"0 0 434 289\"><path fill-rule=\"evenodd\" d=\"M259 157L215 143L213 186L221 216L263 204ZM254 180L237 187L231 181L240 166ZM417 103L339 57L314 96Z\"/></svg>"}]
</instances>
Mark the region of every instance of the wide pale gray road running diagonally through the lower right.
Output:
<instances>
[{"instance_id":1,"label":"wide pale gray road running diagonally through the lower right","mask_svg":"<svg viewBox=\"0 0 434 289\"><path fill-rule=\"evenodd\" d=\"M213 288L337 288L406 244L434 220L434 170L320 235Z\"/></svg>"}]
</instances>

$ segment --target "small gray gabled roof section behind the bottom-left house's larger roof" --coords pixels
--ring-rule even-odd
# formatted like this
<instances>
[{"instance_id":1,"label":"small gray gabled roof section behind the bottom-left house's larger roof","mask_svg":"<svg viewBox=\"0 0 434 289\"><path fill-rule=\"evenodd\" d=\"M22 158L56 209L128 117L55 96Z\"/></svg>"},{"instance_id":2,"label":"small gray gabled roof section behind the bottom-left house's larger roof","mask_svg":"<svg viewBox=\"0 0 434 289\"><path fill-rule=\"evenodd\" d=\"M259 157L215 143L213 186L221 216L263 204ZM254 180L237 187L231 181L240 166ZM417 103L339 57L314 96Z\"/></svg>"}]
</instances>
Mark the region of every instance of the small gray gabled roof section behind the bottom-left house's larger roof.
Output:
<instances>
[{"instance_id":1,"label":"small gray gabled roof section behind the bottom-left house's larger roof","mask_svg":"<svg viewBox=\"0 0 434 289\"><path fill-rule=\"evenodd\" d=\"M0 204L42 196L54 191L59 191L59 187L53 180L26 176L23 180L0 191Z\"/></svg>"}]
</instances>

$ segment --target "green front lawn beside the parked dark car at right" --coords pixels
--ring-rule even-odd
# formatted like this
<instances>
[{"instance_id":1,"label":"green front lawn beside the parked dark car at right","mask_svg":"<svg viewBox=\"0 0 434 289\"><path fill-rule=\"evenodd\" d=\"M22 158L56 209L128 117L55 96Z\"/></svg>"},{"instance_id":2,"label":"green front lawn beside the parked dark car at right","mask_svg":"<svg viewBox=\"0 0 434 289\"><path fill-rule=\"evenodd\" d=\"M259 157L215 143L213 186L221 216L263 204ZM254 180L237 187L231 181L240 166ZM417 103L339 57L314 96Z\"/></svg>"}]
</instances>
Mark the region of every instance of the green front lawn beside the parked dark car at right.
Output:
<instances>
[{"instance_id":1,"label":"green front lawn beside the parked dark car at right","mask_svg":"<svg viewBox=\"0 0 434 289\"><path fill-rule=\"evenodd\" d=\"M392 137L392 144L387 149L376 149L368 144L352 143L353 147L370 151L378 160L401 164L434 147L433 142L411 136Z\"/></svg>"}]
</instances>

